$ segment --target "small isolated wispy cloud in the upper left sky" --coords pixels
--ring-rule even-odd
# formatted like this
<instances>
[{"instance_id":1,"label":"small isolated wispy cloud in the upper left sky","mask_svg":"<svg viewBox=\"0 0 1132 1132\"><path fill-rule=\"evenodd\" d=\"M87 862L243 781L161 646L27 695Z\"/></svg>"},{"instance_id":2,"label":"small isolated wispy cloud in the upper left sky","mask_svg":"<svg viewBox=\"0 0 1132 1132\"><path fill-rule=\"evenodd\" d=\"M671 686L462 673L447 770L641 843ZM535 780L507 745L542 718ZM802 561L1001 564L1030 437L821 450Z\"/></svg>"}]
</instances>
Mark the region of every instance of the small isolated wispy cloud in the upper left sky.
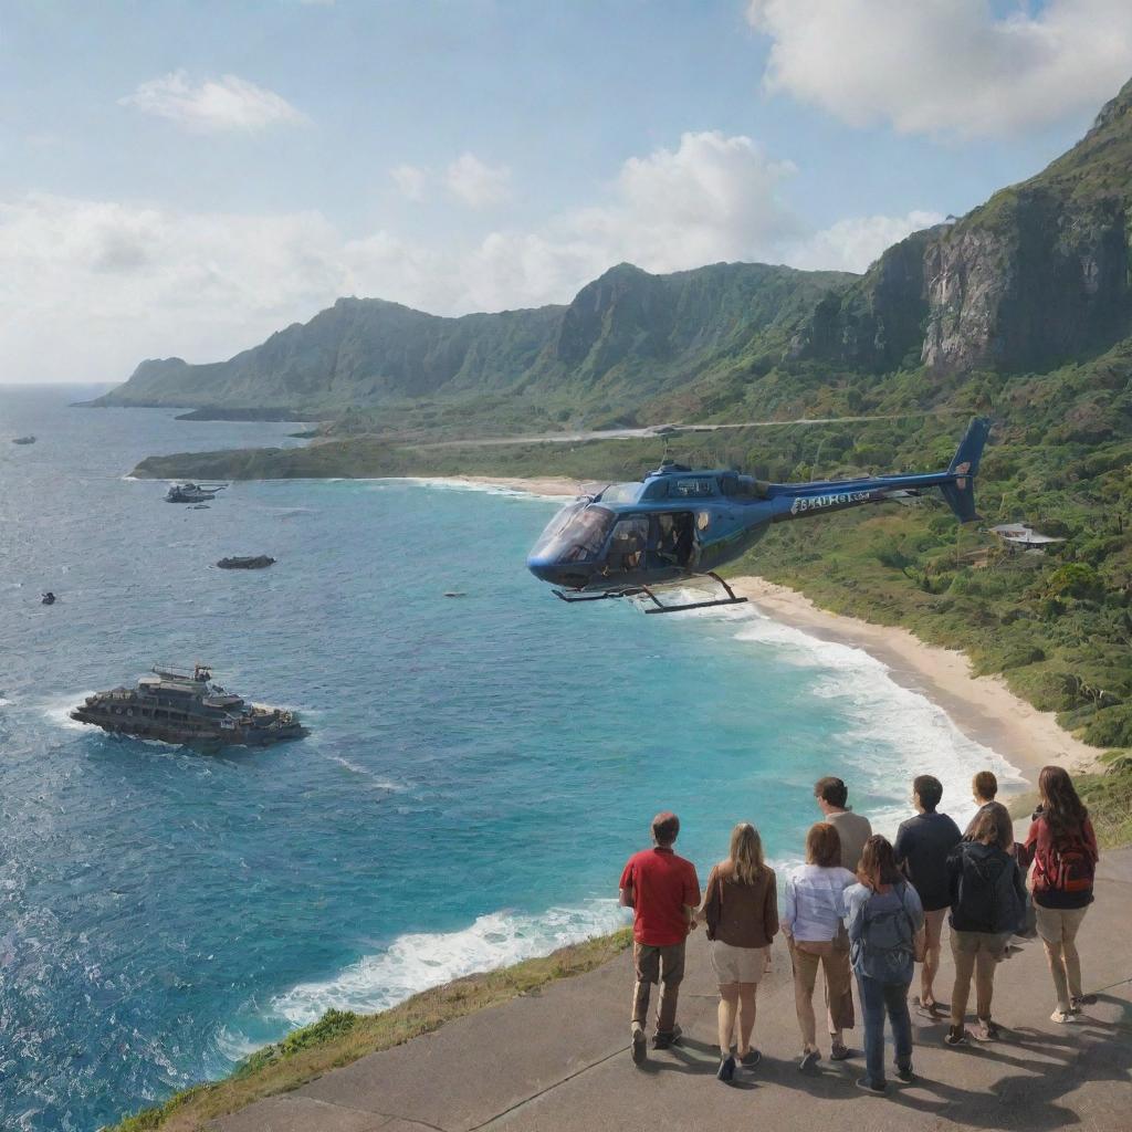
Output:
<instances>
[{"instance_id":1,"label":"small isolated wispy cloud in the upper left sky","mask_svg":"<svg viewBox=\"0 0 1132 1132\"><path fill-rule=\"evenodd\" d=\"M183 70L173 71L143 83L118 101L195 134L250 132L268 126L300 126L308 120L282 95L235 75L194 84Z\"/></svg>"}]
</instances>

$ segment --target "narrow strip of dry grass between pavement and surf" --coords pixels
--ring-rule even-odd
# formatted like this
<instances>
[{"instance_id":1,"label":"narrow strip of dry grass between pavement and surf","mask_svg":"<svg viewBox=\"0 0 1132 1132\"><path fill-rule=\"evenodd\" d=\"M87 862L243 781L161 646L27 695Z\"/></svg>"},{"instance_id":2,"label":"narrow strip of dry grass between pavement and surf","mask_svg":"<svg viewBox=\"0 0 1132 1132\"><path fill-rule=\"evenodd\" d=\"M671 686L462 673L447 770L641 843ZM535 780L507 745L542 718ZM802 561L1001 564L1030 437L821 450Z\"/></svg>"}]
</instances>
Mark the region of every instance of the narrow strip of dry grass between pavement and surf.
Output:
<instances>
[{"instance_id":1,"label":"narrow strip of dry grass between pavement and surf","mask_svg":"<svg viewBox=\"0 0 1132 1132\"><path fill-rule=\"evenodd\" d=\"M317 1022L265 1046L221 1081L194 1086L164 1104L127 1116L106 1132L196 1132L207 1121L307 1081L380 1049L391 1049L445 1022L531 994L557 979L593 970L632 942L628 928L561 947L541 959L446 983L379 1014L327 1011Z\"/></svg>"}]
</instances>

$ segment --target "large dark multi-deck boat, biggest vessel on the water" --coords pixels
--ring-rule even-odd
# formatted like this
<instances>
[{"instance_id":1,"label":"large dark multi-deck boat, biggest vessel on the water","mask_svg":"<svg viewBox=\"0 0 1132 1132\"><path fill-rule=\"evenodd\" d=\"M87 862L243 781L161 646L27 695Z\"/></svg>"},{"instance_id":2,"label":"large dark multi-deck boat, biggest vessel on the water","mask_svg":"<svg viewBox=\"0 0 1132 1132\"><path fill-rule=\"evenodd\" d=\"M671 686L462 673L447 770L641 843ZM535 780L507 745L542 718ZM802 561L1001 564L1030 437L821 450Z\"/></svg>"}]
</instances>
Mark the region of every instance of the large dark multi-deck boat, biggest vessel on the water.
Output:
<instances>
[{"instance_id":1,"label":"large dark multi-deck boat, biggest vessel on the water","mask_svg":"<svg viewBox=\"0 0 1132 1132\"><path fill-rule=\"evenodd\" d=\"M132 688L87 696L70 718L110 735L206 751L265 747L309 734L297 712L249 704L214 684L208 664L196 664L191 672L155 667Z\"/></svg>"}]
</instances>

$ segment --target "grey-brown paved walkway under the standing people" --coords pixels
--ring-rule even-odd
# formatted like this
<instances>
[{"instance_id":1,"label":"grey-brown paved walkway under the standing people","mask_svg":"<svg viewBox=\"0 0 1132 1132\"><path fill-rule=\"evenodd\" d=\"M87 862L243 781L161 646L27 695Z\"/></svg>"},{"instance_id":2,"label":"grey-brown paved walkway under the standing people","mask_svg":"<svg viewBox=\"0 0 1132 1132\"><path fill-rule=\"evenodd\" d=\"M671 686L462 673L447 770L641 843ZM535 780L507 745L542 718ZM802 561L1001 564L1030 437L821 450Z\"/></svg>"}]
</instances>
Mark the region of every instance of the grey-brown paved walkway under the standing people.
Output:
<instances>
[{"instance_id":1,"label":"grey-brown paved walkway under the standing people","mask_svg":"<svg viewBox=\"0 0 1132 1132\"><path fill-rule=\"evenodd\" d=\"M1132 976L1132 850L1101 864L1097 902L1080 936L1086 990ZM628 1054L631 963L554 984L335 1070L209 1125L216 1132L683 1132L756 1129L903 1132L914 1129L1132 1129L1132 984L1100 995L1075 1026L1049 1021L1053 985L1041 945L1003 963L995 983L995 1043L950 1049L945 1027L915 1019L912 1086L887 1097L855 1088L863 1063L797 1069L798 1026L781 937L758 996L763 1062L731 1087L714 1078L715 1003L703 932L692 937L679 1047ZM938 987L950 997L944 942ZM915 990L915 985L914 985ZM860 1041L860 1030L856 1034ZM827 1048L825 1050L829 1052ZM891 1056L891 1049L889 1050Z\"/></svg>"}]
</instances>

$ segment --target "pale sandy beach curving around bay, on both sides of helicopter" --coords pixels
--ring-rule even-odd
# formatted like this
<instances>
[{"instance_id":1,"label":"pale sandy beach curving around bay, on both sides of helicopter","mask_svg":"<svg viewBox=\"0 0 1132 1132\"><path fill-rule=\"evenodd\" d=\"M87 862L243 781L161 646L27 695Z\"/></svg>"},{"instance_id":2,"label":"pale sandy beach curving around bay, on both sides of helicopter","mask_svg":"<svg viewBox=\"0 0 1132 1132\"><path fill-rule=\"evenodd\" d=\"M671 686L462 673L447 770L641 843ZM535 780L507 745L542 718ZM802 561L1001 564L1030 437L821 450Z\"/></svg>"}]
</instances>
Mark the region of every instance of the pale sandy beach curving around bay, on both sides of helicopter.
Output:
<instances>
[{"instance_id":1,"label":"pale sandy beach curving around bay, on both sides of helicopter","mask_svg":"<svg viewBox=\"0 0 1132 1132\"><path fill-rule=\"evenodd\" d=\"M451 475L437 480L564 497L581 495L586 487L560 477ZM1103 753L1061 727L1054 712L1040 712L1014 695L1002 677L974 676L964 653L927 644L899 626L831 612L798 590L755 575L728 582L772 620L822 641L860 649L878 660L897 684L941 707L963 735L1002 755L1035 788L1043 766L1057 763L1071 772L1092 770Z\"/></svg>"}]
</instances>

